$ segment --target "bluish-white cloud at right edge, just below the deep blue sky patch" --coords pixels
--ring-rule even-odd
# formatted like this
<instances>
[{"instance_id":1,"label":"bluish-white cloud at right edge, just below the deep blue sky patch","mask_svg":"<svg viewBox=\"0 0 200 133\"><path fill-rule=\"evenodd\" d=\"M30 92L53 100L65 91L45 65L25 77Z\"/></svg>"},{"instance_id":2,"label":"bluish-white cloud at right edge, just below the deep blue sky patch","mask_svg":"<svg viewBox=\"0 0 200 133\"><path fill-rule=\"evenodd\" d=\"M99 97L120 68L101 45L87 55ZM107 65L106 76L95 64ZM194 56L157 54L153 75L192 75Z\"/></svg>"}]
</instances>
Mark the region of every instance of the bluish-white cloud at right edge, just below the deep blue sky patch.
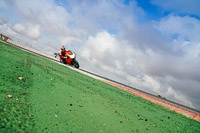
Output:
<instances>
[{"instance_id":1,"label":"bluish-white cloud at right edge, just below the deep blue sky patch","mask_svg":"<svg viewBox=\"0 0 200 133\"><path fill-rule=\"evenodd\" d=\"M184 41L200 41L200 21L190 16L174 16L169 15L161 19L155 26L163 34L174 36Z\"/></svg>"}]
</instances>

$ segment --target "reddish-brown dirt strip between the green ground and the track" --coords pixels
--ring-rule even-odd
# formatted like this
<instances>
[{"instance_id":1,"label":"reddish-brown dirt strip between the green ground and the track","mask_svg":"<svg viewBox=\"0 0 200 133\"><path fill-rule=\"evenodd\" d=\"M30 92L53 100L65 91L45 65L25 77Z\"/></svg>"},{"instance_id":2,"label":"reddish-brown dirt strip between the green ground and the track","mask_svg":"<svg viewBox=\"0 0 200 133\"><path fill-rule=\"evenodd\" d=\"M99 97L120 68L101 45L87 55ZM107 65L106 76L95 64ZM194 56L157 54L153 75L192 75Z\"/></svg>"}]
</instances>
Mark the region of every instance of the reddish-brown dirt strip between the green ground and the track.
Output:
<instances>
[{"instance_id":1,"label":"reddish-brown dirt strip between the green ground and the track","mask_svg":"<svg viewBox=\"0 0 200 133\"><path fill-rule=\"evenodd\" d=\"M139 96L139 97L141 97L143 99L146 99L146 100L149 100L149 101L151 101L153 103L161 105L161 106L163 106L165 108L168 108L168 109L170 109L172 111L181 113L184 116L187 116L187 117L189 117L189 118L191 118L193 120L196 120L196 121L200 122L200 114L199 113L192 112L190 110L184 109L184 108L182 108L180 106L174 105L174 104L169 103L167 101L163 101L163 100L161 100L159 98L149 96L149 95L144 94L142 92L139 92L139 91L136 91L136 90L132 90L132 89L129 89L127 87L124 87L124 86L121 86L121 85L118 85L118 84L115 84L115 83L112 83L112 82L109 82L109 81L105 81L105 80L101 80L101 81L105 82L105 83L108 83L108 84L110 84L112 86L115 86L115 87L117 87L119 89L122 89L124 91L127 91L127 92L129 92L129 93L131 93L133 95Z\"/></svg>"}]
</instances>

